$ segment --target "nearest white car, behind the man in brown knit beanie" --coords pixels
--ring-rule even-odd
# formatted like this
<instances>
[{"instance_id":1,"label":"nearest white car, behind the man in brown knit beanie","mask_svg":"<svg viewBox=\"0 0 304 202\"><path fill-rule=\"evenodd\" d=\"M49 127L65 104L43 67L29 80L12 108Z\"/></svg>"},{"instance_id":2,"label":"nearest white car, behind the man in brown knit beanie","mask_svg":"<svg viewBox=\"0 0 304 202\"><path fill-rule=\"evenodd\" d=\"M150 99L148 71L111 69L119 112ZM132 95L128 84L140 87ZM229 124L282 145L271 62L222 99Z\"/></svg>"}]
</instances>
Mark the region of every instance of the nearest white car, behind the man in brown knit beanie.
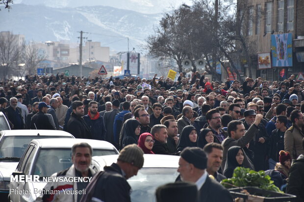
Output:
<instances>
[{"instance_id":1,"label":"nearest white car, behind the man in brown knit beanie","mask_svg":"<svg viewBox=\"0 0 304 202\"><path fill-rule=\"evenodd\" d=\"M92 167L96 171L101 171L104 166L116 162L117 158L118 155L93 157ZM178 156L145 154L144 158L144 166L138 171L137 176L127 180L132 190L132 202L156 202L156 188L174 182L178 176Z\"/></svg>"}]
</instances>

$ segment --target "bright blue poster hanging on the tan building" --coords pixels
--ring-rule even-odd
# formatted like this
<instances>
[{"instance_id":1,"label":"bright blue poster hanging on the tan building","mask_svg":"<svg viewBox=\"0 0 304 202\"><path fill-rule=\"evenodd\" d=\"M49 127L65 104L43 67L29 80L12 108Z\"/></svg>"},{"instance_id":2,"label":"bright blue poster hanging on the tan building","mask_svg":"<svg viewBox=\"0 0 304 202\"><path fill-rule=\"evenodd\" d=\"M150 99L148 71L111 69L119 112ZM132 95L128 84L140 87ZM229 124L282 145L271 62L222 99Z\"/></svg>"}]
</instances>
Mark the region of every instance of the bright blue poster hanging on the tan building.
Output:
<instances>
[{"instance_id":1,"label":"bright blue poster hanging on the tan building","mask_svg":"<svg viewBox=\"0 0 304 202\"><path fill-rule=\"evenodd\" d=\"M292 35L271 35L271 56L273 67L292 67Z\"/></svg>"}]
</instances>

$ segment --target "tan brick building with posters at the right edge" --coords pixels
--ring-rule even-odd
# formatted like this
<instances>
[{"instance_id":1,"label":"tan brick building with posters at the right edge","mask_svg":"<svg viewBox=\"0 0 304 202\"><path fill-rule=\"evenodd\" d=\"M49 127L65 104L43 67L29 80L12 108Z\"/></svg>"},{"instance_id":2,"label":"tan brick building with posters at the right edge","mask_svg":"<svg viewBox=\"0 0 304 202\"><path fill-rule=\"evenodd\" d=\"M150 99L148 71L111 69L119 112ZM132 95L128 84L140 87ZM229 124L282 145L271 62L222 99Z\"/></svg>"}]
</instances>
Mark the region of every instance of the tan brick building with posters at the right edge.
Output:
<instances>
[{"instance_id":1,"label":"tan brick building with posters at the right edge","mask_svg":"<svg viewBox=\"0 0 304 202\"><path fill-rule=\"evenodd\" d=\"M239 8L244 4L243 0L237 2ZM242 22L243 34L256 44L256 54L251 56L253 78L261 76L269 81L283 80L291 74L304 72L303 1L247 0L247 2L248 8L245 11L241 9L238 11L242 14L247 13L247 18ZM290 43L285 41L287 36L291 37ZM286 51L286 47L290 52ZM272 67L259 69L267 62L266 58L258 58L258 56L271 51ZM288 62L282 62L287 59ZM245 70L248 75L248 68L245 67Z\"/></svg>"}]
</instances>

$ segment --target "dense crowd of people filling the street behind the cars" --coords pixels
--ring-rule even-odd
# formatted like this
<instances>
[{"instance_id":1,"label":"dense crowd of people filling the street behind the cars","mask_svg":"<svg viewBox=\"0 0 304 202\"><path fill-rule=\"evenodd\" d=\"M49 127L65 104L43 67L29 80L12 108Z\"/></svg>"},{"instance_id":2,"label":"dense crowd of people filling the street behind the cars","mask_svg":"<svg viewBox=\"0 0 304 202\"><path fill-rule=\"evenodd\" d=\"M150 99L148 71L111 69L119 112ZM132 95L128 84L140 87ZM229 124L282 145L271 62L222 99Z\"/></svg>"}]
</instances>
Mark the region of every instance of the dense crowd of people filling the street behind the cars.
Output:
<instances>
[{"instance_id":1,"label":"dense crowd of people filling the street behind the cars","mask_svg":"<svg viewBox=\"0 0 304 202\"><path fill-rule=\"evenodd\" d=\"M303 201L304 81L291 75L222 83L205 75L180 73L177 81L156 74L150 80L27 75L0 82L0 111L11 129L64 130L121 151L137 144L145 154L180 155L181 180L188 172L183 162L217 181L238 166L264 170ZM207 165L185 151L205 154Z\"/></svg>"}]
</instances>

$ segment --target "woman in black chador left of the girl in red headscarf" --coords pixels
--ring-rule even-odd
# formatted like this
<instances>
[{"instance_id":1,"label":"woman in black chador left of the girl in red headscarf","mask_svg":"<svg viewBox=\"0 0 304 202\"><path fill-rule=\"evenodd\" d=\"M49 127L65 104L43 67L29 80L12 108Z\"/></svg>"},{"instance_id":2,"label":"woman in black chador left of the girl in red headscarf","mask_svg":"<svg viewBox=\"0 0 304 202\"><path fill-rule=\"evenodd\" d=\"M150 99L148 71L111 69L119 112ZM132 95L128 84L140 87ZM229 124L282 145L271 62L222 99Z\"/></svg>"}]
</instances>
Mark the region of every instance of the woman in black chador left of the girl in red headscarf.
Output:
<instances>
[{"instance_id":1,"label":"woman in black chador left of the girl in red headscarf","mask_svg":"<svg viewBox=\"0 0 304 202\"><path fill-rule=\"evenodd\" d=\"M136 119L128 119L123 126L120 149L129 144L137 144L140 133L140 123Z\"/></svg>"}]
</instances>

